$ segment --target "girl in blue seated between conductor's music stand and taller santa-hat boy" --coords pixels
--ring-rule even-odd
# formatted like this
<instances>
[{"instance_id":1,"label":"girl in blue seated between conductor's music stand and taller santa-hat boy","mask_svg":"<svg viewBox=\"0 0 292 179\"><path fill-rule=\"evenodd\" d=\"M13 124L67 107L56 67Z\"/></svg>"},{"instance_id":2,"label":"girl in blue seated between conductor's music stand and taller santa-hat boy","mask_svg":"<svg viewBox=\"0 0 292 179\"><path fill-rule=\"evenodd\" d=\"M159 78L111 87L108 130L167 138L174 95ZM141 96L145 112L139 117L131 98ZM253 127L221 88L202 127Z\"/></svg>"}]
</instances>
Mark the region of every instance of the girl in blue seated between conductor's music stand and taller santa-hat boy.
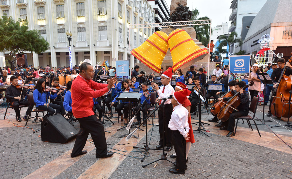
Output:
<instances>
[{"instance_id":1,"label":"girl in blue seated between conductor's music stand and taller santa-hat boy","mask_svg":"<svg viewBox=\"0 0 292 179\"><path fill-rule=\"evenodd\" d=\"M140 105L138 105L134 110L135 110L135 113L137 113L137 122L135 123L136 125L138 125L138 124L140 124L140 122L141 122L141 119L140 119L140 107L141 107L141 105L143 104L143 101L145 101L144 102L144 104L143 104L143 106L142 106L142 114L143 114L143 121L145 121L145 119L146 119L146 115L147 115L147 110L148 110L148 108L150 108L151 107L151 104L150 104L150 96L149 96L149 98L147 98L146 99L146 97L148 96L148 94L149 94L149 90L147 90L147 87L148 87L148 85L147 85L147 83L142 83L142 85L141 85L141 87L142 87L142 91L140 91L140 93L142 93L143 95L140 97L140 99L141 99L141 104ZM139 111L138 111L139 110ZM146 126L146 123L143 123L143 126Z\"/></svg>"}]
</instances>

